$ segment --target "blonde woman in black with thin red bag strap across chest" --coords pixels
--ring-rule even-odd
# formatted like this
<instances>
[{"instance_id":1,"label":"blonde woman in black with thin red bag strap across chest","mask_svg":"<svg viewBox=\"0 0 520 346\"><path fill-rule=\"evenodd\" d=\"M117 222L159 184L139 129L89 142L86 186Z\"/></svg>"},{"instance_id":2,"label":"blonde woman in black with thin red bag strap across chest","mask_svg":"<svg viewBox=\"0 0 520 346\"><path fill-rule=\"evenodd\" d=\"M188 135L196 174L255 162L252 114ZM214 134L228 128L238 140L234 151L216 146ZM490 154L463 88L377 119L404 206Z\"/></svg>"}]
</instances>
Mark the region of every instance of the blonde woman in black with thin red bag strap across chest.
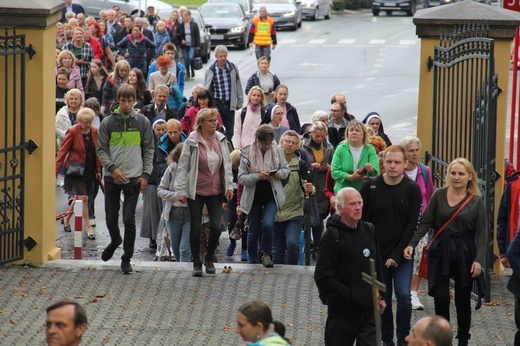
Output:
<instances>
[{"instance_id":1,"label":"blonde woman in black with thin red bag strap across chest","mask_svg":"<svg viewBox=\"0 0 520 346\"><path fill-rule=\"evenodd\" d=\"M467 159L457 158L448 166L445 187L433 193L420 226L404 250L404 257L412 259L414 248L433 229L428 248L428 295L434 298L435 314L450 321L450 278L455 281L459 346L468 345L471 337L473 280L479 289L475 309L480 307L484 293L482 271L490 236L486 216L475 169Z\"/></svg>"}]
</instances>

